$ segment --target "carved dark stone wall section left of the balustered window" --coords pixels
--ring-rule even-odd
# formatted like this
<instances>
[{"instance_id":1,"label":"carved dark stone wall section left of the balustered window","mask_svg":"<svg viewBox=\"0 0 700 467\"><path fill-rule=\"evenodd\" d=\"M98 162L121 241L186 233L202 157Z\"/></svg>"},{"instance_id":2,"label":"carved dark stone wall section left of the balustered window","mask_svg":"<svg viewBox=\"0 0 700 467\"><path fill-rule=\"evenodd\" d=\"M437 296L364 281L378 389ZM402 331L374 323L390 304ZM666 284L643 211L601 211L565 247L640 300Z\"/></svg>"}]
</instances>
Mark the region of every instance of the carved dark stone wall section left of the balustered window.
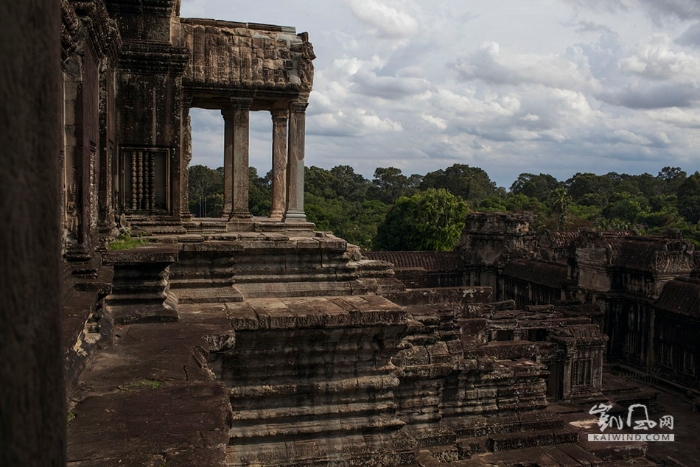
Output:
<instances>
[{"instance_id":1,"label":"carved dark stone wall section left of the balustered window","mask_svg":"<svg viewBox=\"0 0 700 467\"><path fill-rule=\"evenodd\" d=\"M63 70L63 159L61 163L64 249L85 260L104 236L114 234L111 152L114 148L116 26L105 4L61 3Z\"/></svg>"}]
</instances>

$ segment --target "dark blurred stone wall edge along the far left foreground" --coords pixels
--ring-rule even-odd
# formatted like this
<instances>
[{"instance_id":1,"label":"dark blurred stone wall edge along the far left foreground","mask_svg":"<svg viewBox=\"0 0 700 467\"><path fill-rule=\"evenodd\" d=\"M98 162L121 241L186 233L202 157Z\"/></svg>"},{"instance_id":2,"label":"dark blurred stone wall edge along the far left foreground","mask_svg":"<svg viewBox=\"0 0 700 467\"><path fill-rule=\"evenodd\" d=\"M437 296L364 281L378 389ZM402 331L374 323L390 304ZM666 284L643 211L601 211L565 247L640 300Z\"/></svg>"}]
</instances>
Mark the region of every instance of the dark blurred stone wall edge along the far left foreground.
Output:
<instances>
[{"instance_id":1,"label":"dark blurred stone wall edge along the far left foreground","mask_svg":"<svg viewBox=\"0 0 700 467\"><path fill-rule=\"evenodd\" d=\"M0 465L65 465L60 4L0 4Z\"/></svg>"}]
</instances>

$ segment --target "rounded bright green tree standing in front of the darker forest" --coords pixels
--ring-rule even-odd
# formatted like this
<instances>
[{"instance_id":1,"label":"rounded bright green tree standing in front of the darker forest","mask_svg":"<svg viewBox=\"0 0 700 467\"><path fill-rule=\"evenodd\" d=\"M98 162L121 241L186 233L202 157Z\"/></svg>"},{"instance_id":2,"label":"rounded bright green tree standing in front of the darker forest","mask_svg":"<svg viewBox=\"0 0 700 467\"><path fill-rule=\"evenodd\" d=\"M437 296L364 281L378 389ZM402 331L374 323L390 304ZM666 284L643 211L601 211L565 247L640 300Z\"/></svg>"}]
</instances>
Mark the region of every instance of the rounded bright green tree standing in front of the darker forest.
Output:
<instances>
[{"instance_id":1,"label":"rounded bright green tree standing in front of the darker forest","mask_svg":"<svg viewBox=\"0 0 700 467\"><path fill-rule=\"evenodd\" d=\"M377 228L375 245L384 250L452 250L468 212L467 204L445 189L401 197Z\"/></svg>"}]
</instances>

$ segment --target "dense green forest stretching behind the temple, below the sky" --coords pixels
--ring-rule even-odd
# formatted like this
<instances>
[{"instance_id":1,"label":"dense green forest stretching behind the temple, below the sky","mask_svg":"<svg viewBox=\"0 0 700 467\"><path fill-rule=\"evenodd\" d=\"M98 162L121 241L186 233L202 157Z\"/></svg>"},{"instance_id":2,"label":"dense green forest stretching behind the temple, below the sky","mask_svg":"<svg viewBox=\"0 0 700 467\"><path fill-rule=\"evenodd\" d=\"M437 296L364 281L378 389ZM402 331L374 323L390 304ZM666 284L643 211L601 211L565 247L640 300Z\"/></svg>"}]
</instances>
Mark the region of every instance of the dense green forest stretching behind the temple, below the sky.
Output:
<instances>
[{"instance_id":1,"label":"dense green forest stretching behind the temple, below the sky","mask_svg":"<svg viewBox=\"0 0 700 467\"><path fill-rule=\"evenodd\" d=\"M250 212L266 216L270 174L250 177ZM506 189L478 167L455 164L425 175L379 167L372 180L339 165L305 169L305 208L318 230L328 230L364 250L451 250L470 211L532 211L535 229L632 229L657 234L679 229L700 245L700 172L680 167L657 175L577 173L559 181L523 173ZM189 207L197 217L219 217L223 169L189 168Z\"/></svg>"}]
</instances>

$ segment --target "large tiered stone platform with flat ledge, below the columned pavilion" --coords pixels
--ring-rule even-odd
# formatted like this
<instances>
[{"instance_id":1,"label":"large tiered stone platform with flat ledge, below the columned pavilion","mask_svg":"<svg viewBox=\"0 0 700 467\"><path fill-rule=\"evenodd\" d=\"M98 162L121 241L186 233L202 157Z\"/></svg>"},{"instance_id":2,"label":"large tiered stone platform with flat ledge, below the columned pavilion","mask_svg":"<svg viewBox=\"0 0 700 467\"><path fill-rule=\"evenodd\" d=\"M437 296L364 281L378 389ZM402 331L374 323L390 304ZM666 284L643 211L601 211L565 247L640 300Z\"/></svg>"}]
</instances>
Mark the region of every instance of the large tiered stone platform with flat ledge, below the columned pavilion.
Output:
<instances>
[{"instance_id":1,"label":"large tiered stone platform with flat ledge, below the columned pavilion","mask_svg":"<svg viewBox=\"0 0 700 467\"><path fill-rule=\"evenodd\" d=\"M581 447L580 408L549 407L555 341L489 342L580 319L496 311L488 288L407 290L328 234L152 240L105 256L123 279L105 299L112 342L71 395L70 466L624 461ZM144 297L176 314L138 311Z\"/></svg>"}]
</instances>

